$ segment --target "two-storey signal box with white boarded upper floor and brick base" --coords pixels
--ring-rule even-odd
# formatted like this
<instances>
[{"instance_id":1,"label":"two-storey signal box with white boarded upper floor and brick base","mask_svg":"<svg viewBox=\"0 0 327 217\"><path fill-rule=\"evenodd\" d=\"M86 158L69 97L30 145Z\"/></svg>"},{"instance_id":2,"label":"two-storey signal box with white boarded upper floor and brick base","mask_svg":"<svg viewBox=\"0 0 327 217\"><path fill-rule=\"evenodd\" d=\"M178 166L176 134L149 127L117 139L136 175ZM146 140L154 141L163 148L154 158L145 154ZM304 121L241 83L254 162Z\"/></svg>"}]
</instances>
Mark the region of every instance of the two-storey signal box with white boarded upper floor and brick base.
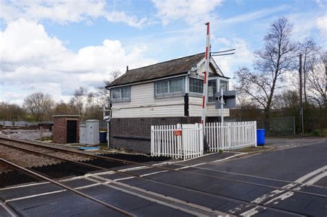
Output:
<instances>
[{"instance_id":1,"label":"two-storey signal box with white boarded upper floor and brick base","mask_svg":"<svg viewBox=\"0 0 327 217\"><path fill-rule=\"evenodd\" d=\"M215 92L228 77L210 59L207 121L218 121ZM199 123L204 87L204 53L128 70L110 90L110 147L150 153L150 126ZM224 110L229 116L229 110Z\"/></svg>"}]
</instances>

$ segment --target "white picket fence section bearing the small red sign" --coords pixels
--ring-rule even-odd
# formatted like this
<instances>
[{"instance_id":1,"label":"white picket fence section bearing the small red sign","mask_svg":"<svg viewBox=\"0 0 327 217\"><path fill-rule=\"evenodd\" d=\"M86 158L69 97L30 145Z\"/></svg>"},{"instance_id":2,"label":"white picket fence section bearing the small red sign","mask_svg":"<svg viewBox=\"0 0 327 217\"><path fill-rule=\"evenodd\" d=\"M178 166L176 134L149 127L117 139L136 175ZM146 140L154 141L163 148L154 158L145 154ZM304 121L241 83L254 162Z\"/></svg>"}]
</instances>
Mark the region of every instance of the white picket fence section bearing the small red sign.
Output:
<instances>
[{"instance_id":1,"label":"white picket fence section bearing the small red sign","mask_svg":"<svg viewBox=\"0 0 327 217\"><path fill-rule=\"evenodd\" d=\"M203 125L151 126L151 156L195 158L204 154Z\"/></svg>"}]
</instances>

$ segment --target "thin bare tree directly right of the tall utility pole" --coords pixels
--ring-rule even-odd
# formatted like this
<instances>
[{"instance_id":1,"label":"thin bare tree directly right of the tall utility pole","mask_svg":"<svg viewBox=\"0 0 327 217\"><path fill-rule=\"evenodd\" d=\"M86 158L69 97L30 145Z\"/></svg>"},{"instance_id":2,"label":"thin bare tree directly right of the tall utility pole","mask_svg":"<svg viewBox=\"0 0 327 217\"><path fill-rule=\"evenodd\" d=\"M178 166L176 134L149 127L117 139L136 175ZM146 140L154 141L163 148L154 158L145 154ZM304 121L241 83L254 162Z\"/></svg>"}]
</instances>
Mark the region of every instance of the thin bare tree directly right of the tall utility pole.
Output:
<instances>
[{"instance_id":1,"label":"thin bare tree directly right of the tall utility pole","mask_svg":"<svg viewBox=\"0 0 327 217\"><path fill-rule=\"evenodd\" d=\"M304 102L308 103L308 97L306 93L306 83L308 77L308 71L310 70L310 65L312 65L313 59L317 54L319 48L317 47L315 41L313 39L306 38L304 43L300 44L300 52L303 54L303 90L304 90Z\"/></svg>"}]
</instances>

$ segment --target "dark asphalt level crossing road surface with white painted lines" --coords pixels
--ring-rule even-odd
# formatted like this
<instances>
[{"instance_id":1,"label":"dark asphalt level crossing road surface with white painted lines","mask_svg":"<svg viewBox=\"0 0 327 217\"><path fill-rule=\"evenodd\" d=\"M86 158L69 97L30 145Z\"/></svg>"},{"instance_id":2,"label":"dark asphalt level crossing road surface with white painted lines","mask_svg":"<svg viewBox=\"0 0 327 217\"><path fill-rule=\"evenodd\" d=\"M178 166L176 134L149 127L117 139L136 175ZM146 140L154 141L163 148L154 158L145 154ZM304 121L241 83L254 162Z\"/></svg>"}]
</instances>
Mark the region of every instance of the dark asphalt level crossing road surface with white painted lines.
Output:
<instances>
[{"instance_id":1,"label":"dark asphalt level crossing road surface with white painted lines","mask_svg":"<svg viewBox=\"0 0 327 217\"><path fill-rule=\"evenodd\" d=\"M225 160L221 158L225 156ZM327 216L327 142L60 180L135 216ZM132 176L132 174L143 178ZM52 183L0 189L0 216L120 216Z\"/></svg>"}]
</instances>

